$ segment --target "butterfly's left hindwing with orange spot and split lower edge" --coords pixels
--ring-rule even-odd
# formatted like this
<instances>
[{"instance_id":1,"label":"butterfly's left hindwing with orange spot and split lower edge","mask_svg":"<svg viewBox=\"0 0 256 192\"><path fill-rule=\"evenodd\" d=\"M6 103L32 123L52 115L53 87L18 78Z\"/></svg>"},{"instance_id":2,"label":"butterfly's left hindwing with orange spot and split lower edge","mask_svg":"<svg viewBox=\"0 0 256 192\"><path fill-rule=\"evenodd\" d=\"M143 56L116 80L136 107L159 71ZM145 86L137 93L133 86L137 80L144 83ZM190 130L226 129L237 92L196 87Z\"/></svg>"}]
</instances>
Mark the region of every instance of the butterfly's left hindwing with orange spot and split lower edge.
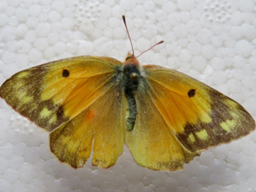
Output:
<instances>
[{"instance_id":1,"label":"butterfly's left hindwing with orange spot and split lower edge","mask_svg":"<svg viewBox=\"0 0 256 192\"><path fill-rule=\"evenodd\" d=\"M108 168L123 151L122 90L113 87L76 118L50 133L50 149L62 162L82 167L93 149L92 165ZM93 146L92 146L92 140Z\"/></svg>"}]
</instances>

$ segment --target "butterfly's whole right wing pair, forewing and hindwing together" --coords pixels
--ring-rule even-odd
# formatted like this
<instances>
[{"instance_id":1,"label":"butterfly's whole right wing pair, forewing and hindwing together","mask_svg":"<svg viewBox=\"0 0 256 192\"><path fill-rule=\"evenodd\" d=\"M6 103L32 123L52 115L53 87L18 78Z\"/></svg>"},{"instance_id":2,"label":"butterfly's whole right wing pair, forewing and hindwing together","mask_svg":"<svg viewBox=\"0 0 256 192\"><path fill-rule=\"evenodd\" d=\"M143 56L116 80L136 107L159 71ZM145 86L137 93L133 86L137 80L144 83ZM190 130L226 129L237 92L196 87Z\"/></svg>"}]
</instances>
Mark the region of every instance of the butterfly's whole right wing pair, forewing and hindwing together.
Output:
<instances>
[{"instance_id":1,"label":"butterfly's whole right wing pair, forewing and hindwing together","mask_svg":"<svg viewBox=\"0 0 256 192\"><path fill-rule=\"evenodd\" d=\"M136 123L125 138L139 165L182 169L201 151L255 129L251 115L215 89L172 69L146 65L144 70Z\"/></svg>"}]
</instances>

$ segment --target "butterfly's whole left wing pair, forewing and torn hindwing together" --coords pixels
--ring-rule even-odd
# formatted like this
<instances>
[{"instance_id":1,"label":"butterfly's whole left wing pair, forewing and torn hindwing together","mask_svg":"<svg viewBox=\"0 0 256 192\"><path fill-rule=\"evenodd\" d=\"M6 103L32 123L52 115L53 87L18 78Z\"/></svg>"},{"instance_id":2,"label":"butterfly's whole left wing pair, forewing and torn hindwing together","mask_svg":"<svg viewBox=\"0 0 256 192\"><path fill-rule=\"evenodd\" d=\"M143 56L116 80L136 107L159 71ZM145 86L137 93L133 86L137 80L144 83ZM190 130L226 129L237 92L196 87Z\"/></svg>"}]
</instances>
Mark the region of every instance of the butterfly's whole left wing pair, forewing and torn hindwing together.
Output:
<instances>
[{"instance_id":1,"label":"butterfly's whole left wing pair, forewing and torn hindwing together","mask_svg":"<svg viewBox=\"0 0 256 192\"><path fill-rule=\"evenodd\" d=\"M114 165L123 151L125 115L118 71L108 57L81 56L39 65L0 87L14 110L50 133L50 149L74 168Z\"/></svg>"}]
</instances>

